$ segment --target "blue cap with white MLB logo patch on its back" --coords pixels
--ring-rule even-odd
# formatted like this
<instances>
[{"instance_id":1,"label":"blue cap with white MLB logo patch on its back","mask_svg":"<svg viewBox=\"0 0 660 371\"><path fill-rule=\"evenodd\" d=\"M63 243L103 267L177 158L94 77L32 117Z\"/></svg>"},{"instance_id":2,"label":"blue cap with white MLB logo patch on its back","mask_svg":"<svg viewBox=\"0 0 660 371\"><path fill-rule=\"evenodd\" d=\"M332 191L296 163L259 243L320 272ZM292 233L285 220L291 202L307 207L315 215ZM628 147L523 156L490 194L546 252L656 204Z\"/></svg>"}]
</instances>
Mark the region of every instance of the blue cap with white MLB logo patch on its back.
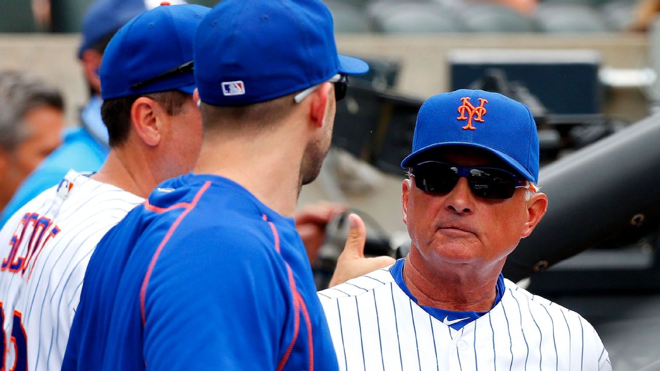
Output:
<instances>
[{"instance_id":1,"label":"blue cap with white MLB logo patch on its back","mask_svg":"<svg viewBox=\"0 0 660 371\"><path fill-rule=\"evenodd\" d=\"M368 70L337 54L332 15L319 0L224 0L195 36L199 96L216 106L263 102Z\"/></svg>"}]
</instances>

